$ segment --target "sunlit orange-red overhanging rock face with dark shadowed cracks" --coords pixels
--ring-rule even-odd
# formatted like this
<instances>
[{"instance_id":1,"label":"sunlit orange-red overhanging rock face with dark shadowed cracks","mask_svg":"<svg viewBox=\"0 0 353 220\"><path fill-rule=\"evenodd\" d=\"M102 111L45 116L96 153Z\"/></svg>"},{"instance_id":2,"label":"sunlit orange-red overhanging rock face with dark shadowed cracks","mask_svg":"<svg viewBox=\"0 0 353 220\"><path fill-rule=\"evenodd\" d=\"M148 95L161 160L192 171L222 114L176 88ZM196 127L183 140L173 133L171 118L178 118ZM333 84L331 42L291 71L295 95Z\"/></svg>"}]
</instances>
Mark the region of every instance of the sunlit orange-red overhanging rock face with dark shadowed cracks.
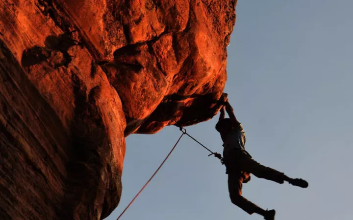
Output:
<instances>
[{"instance_id":1,"label":"sunlit orange-red overhanging rock face with dark shadowed cracks","mask_svg":"<svg viewBox=\"0 0 353 220\"><path fill-rule=\"evenodd\" d=\"M213 117L236 0L0 0L0 219L103 219L125 137Z\"/></svg>"}]
</instances>

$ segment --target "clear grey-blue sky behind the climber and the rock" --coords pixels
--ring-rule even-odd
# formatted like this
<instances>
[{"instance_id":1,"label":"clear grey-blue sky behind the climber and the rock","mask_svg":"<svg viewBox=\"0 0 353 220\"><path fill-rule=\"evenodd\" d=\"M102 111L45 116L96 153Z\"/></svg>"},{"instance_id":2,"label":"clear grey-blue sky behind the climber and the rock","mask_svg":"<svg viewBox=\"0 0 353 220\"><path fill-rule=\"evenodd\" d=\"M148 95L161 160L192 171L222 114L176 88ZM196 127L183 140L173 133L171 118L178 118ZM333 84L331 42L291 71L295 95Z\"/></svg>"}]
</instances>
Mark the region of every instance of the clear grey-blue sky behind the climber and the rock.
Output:
<instances>
[{"instance_id":1,"label":"clear grey-blue sky behind the climber and the rock","mask_svg":"<svg viewBox=\"0 0 353 220\"><path fill-rule=\"evenodd\" d=\"M252 176L243 196L277 220L353 219L353 1L239 0L225 92L258 162L309 188ZM218 115L187 131L214 151ZM176 142L174 126L126 139L115 220ZM230 202L225 167L188 137L121 220L261 220Z\"/></svg>"}]
</instances>

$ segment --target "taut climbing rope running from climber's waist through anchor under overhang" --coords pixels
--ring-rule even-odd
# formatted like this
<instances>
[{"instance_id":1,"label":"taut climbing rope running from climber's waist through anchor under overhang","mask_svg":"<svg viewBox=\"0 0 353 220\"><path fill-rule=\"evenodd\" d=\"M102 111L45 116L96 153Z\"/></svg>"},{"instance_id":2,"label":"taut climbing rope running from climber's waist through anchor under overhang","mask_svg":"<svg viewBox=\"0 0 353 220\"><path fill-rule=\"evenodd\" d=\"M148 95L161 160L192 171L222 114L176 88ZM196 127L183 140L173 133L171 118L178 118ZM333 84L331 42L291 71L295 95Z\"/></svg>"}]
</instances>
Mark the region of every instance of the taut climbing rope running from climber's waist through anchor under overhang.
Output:
<instances>
[{"instance_id":1,"label":"taut climbing rope running from climber's waist through anchor under overhang","mask_svg":"<svg viewBox=\"0 0 353 220\"><path fill-rule=\"evenodd\" d=\"M124 211L120 214L120 216L118 217L117 220L120 219L120 217L123 216L123 214L126 212L126 210L130 207L130 205L135 201L135 199L140 196L141 192L146 188L146 186L151 182L152 178L157 174L157 172L160 170L160 168L163 166L163 164L167 161L168 157L170 156L170 154L172 154L172 152L174 151L174 149L176 148L176 145L179 143L180 139L182 138L182 136L184 134L186 134L187 136L189 136L191 139L193 139L194 141L196 141L198 144L200 144L204 149L206 149L207 151L209 151L211 154L210 155L214 155L215 157L219 158L221 160L221 163L223 163L223 157L221 156L221 154L217 153L217 152L212 152L210 149L208 149L206 146L204 146L202 143L200 143L198 140L196 140L193 136L191 136L190 134L188 134L186 132L186 129L178 126L175 124L176 127L179 128L179 130L182 132L182 134L180 135L179 139L176 141L175 145L173 146L172 150L169 152L169 154L166 156L166 158L163 160L163 162L159 165L159 167L154 171L153 175L150 177L149 180L147 180L147 182L145 183L145 185L141 188L141 190L136 194L136 196L130 201L130 203L126 206L126 208L124 209Z\"/></svg>"}]
</instances>

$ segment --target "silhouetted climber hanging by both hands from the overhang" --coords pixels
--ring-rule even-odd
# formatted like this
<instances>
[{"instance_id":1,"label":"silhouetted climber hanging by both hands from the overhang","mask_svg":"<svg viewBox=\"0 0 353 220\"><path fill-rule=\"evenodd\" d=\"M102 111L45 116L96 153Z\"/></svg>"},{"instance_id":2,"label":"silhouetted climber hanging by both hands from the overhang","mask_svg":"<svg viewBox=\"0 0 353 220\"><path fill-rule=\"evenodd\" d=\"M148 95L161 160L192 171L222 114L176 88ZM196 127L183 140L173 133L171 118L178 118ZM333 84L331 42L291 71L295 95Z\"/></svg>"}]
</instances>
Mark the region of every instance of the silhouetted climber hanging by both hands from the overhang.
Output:
<instances>
[{"instance_id":1,"label":"silhouetted climber hanging by both hands from the overhang","mask_svg":"<svg viewBox=\"0 0 353 220\"><path fill-rule=\"evenodd\" d=\"M280 184L287 181L294 186L302 188L308 187L308 183L303 179L290 178L277 170L265 167L253 160L251 155L245 151L245 132L242 124L238 122L234 115L233 108L227 99L227 93L223 93L221 101L224 102L224 105L221 109L219 121L216 124L216 130L220 132L224 142L223 162L227 168L230 200L250 215L257 213L262 215L265 220L274 220L275 210L264 210L242 197L243 183L250 181L250 174ZM229 118L225 118L225 109Z\"/></svg>"}]
</instances>

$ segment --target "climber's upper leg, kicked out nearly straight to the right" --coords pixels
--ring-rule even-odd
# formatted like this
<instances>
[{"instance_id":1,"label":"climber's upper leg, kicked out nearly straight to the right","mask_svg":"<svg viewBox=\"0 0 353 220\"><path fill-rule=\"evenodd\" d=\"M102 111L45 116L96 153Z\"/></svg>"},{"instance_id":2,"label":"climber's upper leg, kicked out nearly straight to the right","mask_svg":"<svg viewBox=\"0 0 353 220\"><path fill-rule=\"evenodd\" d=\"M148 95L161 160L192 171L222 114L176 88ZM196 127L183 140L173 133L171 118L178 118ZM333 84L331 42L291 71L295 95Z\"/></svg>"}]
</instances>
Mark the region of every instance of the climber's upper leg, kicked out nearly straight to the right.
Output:
<instances>
[{"instance_id":1,"label":"climber's upper leg, kicked out nearly straight to the right","mask_svg":"<svg viewBox=\"0 0 353 220\"><path fill-rule=\"evenodd\" d=\"M303 179L293 179L270 167L265 167L249 156L240 156L238 159L240 169L244 172L252 173L258 178L264 178L282 184L284 181L302 188L308 187L308 183Z\"/></svg>"}]
</instances>

